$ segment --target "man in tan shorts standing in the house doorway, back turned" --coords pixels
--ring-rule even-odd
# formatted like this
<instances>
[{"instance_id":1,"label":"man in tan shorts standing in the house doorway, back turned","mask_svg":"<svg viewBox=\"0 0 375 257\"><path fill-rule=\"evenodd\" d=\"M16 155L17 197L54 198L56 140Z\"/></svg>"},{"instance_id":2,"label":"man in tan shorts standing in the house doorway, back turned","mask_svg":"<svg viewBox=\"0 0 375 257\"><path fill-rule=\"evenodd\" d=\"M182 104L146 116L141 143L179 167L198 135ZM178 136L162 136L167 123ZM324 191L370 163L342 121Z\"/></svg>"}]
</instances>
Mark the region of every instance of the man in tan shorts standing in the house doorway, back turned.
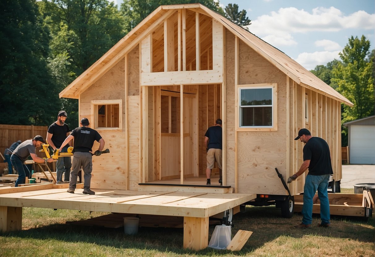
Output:
<instances>
[{"instance_id":1,"label":"man in tan shorts standing in the house doorway, back turned","mask_svg":"<svg viewBox=\"0 0 375 257\"><path fill-rule=\"evenodd\" d=\"M217 163L219 167L219 183L223 185L222 180L222 128L221 128L222 120L217 119L215 126L209 127L204 134L204 145L206 146L207 151L207 169L206 169L206 176L207 176L207 185L211 185L211 170L213 165Z\"/></svg>"}]
</instances>

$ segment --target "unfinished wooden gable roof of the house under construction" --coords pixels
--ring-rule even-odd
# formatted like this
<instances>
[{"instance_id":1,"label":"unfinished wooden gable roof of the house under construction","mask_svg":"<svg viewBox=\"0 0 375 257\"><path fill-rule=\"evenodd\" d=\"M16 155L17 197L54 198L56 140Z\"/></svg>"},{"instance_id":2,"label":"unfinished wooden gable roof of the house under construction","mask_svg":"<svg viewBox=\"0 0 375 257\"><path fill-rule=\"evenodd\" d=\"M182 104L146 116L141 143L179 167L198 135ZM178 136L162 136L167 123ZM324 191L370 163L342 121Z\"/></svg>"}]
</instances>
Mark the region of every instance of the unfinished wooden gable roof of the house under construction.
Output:
<instances>
[{"instance_id":1,"label":"unfinished wooden gable roof of the house under construction","mask_svg":"<svg viewBox=\"0 0 375 257\"><path fill-rule=\"evenodd\" d=\"M90 85L95 83L105 72L110 70L118 61L132 50L142 39L144 39L154 29L171 16L177 9L190 9L195 12L210 16L220 22L231 33L239 37L255 52L263 58L270 61L278 69L293 79L297 84L309 88L313 91L323 94L324 96L338 100L349 106L353 106L347 98L342 96L332 87L324 83L321 79L309 72L299 63L294 61L288 55L276 49L269 43L261 40L259 37L234 24L220 14L205 7L202 4L177 4L159 6L143 21L141 21L132 31L118 41L107 53L105 53L98 61L78 76L68 87L60 92L60 97L68 97L78 99L79 95L85 91Z\"/></svg>"}]
</instances>

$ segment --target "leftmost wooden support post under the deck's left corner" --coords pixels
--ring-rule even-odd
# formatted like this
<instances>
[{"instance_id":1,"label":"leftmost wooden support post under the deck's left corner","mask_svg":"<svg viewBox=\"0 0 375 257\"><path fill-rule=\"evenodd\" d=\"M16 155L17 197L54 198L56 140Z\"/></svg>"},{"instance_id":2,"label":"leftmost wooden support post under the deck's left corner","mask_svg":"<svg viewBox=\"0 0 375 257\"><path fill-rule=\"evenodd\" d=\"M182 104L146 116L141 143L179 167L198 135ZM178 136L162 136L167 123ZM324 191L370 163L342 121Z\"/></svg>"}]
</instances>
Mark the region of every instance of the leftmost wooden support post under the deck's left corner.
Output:
<instances>
[{"instance_id":1,"label":"leftmost wooden support post under the deck's left corner","mask_svg":"<svg viewBox=\"0 0 375 257\"><path fill-rule=\"evenodd\" d=\"M22 229L22 207L0 206L0 231Z\"/></svg>"}]
</instances>

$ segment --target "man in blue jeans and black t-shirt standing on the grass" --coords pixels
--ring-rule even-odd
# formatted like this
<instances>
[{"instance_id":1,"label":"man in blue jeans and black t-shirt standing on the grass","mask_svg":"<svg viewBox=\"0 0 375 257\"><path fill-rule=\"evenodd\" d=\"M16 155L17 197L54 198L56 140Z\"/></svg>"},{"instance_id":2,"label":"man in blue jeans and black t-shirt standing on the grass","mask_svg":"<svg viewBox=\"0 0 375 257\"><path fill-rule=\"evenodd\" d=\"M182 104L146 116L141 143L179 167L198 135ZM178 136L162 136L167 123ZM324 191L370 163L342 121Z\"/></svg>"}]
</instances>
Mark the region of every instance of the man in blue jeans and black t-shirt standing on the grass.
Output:
<instances>
[{"instance_id":1,"label":"man in blue jeans and black t-shirt standing on the grass","mask_svg":"<svg viewBox=\"0 0 375 257\"><path fill-rule=\"evenodd\" d=\"M294 226L296 228L307 229L312 223L312 199L318 190L320 199L320 219L318 227L330 226L330 211L328 200L328 182L333 174L331 154L327 142L320 137L312 137L307 129L300 129L298 136L294 140L300 139L305 143L303 147L303 163L298 172L288 178L288 183L297 179L308 168L309 173L305 179L303 192L302 223Z\"/></svg>"}]
</instances>

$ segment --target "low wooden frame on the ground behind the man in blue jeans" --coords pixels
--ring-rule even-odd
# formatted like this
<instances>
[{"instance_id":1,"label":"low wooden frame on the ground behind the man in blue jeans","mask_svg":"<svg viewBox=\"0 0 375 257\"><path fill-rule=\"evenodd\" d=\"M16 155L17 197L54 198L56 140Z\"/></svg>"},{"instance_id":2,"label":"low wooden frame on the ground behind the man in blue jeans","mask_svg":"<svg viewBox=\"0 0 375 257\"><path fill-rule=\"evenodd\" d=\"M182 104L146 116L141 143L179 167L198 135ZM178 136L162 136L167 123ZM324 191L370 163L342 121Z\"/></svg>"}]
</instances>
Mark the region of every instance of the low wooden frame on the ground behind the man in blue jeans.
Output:
<instances>
[{"instance_id":1,"label":"low wooden frame on the ground behind the man in blue jeans","mask_svg":"<svg viewBox=\"0 0 375 257\"><path fill-rule=\"evenodd\" d=\"M330 214L342 216L367 217L367 208L372 208L371 202L365 197L365 194L340 194L329 193ZM294 211L302 211L303 195L294 196ZM312 206L313 213L320 213L320 204Z\"/></svg>"}]
</instances>

